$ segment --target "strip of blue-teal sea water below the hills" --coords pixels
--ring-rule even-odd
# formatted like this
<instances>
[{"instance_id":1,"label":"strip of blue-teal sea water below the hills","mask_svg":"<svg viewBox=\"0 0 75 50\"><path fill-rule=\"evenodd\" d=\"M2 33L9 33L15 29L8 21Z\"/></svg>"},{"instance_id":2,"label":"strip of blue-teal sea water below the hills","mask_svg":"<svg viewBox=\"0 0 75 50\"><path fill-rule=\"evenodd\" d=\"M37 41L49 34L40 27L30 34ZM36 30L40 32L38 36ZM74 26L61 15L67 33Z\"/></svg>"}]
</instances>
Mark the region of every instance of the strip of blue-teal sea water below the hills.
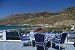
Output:
<instances>
[{"instance_id":1,"label":"strip of blue-teal sea water below the hills","mask_svg":"<svg viewBox=\"0 0 75 50\"><path fill-rule=\"evenodd\" d=\"M0 30L19 29L19 28L37 28L40 26L0 26Z\"/></svg>"}]
</instances>

